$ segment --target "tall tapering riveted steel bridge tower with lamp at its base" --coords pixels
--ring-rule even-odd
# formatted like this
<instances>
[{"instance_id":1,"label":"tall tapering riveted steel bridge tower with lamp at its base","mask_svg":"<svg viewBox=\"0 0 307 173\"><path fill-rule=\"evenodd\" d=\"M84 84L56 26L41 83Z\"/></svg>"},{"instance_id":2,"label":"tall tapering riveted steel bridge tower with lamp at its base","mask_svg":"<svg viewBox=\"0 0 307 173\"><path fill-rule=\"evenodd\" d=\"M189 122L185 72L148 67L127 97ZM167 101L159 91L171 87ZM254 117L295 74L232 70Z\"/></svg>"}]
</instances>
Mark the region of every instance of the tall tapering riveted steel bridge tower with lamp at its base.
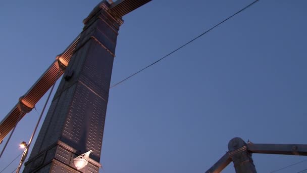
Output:
<instances>
[{"instance_id":1,"label":"tall tapering riveted steel bridge tower with lamp at its base","mask_svg":"<svg viewBox=\"0 0 307 173\"><path fill-rule=\"evenodd\" d=\"M123 21L103 1L84 28L50 105L24 172L99 172L100 150L118 30ZM87 166L73 158L89 150Z\"/></svg>"}]
</instances>

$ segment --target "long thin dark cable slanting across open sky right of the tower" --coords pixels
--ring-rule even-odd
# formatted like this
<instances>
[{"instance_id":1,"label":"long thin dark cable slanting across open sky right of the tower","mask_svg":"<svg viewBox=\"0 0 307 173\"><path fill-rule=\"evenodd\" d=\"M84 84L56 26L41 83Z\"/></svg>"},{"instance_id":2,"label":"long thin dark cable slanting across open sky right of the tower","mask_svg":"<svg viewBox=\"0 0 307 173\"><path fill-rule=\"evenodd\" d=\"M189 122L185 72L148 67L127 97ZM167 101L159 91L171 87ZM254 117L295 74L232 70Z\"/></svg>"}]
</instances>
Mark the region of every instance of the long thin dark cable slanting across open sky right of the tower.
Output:
<instances>
[{"instance_id":1,"label":"long thin dark cable slanting across open sky right of the tower","mask_svg":"<svg viewBox=\"0 0 307 173\"><path fill-rule=\"evenodd\" d=\"M187 46L188 44L190 44L191 42L195 41L197 38L199 38L199 37L203 36L204 34L210 32L211 30L213 30L214 28L218 27L218 26L221 25L222 23L224 23L224 22L226 22L227 20L229 20L229 19L231 19L232 17L234 17L235 15L237 15L237 14L243 12L243 11L246 10L247 8L249 8L249 7L251 7L252 5L254 5L255 3L257 3L258 1L259 1L259 0L256 0L256 1L252 2L251 4L249 4L248 6L244 7L243 9L239 10L239 11L236 12L235 14L233 14L233 15L229 16L228 18L224 19L222 22L216 24L215 26L213 26L213 27L210 28L209 30L204 31L204 32L201 33L200 35L198 35L198 36L196 36L195 38L191 39L190 41L186 42L186 44L180 46L179 48L175 49L175 50L172 51L171 53L169 53L169 54L165 55L164 57L160 58L160 59L157 60L156 62L147 65L146 67L140 69L139 71L137 71L137 72L131 74L130 76L128 76L128 77L122 79L121 81L115 83L114 85L112 85L112 86L110 87L110 89L112 89L112 88L114 88L115 86L119 85L120 83L122 83L122 82L128 80L130 77L135 76L136 74L138 74L139 72L145 70L146 68L148 68L148 67L150 67L150 66L152 66L152 65L155 65L156 63L158 63L159 61L161 61L161 60L165 59L166 57L172 55L173 53L179 51L179 50L182 49L183 47L185 47L185 46Z\"/></svg>"}]
</instances>

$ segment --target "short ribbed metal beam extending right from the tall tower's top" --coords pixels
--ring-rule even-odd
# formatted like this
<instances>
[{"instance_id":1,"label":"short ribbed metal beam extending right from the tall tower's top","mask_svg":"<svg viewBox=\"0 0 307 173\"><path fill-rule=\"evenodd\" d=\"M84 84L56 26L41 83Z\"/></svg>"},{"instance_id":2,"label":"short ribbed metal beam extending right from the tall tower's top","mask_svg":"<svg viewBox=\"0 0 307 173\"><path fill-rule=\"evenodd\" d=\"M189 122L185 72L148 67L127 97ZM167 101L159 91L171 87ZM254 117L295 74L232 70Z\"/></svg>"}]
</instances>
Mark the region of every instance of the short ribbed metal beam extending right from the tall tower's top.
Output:
<instances>
[{"instance_id":1,"label":"short ribbed metal beam extending right from the tall tower's top","mask_svg":"<svg viewBox=\"0 0 307 173\"><path fill-rule=\"evenodd\" d=\"M118 0L111 4L110 11L115 17L121 18L150 1L151 0Z\"/></svg>"}]
</instances>

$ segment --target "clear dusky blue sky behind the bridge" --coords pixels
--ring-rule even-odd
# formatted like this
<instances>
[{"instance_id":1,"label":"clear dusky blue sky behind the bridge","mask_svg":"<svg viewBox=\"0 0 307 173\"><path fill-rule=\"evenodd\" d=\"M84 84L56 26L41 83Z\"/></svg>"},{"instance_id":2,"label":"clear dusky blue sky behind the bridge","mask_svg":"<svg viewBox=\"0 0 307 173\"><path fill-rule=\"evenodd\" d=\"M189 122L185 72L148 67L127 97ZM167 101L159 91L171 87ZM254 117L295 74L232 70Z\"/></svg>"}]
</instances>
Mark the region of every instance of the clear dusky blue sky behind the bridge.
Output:
<instances>
[{"instance_id":1,"label":"clear dusky blue sky behind the bridge","mask_svg":"<svg viewBox=\"0 0 307 173\"><path fill-rule=\"evenodd\" d=\"M126 15L112 83L251 2L153 0ZM0 118L80 33L82 20L98 3L1 3ZM261 0L110 90L100 172L204 172L225 154L234 137L307 144L306 8L304 0ZM38 112L45 99L36 105ZM18 145L29 140L38 116L33 110L18 124L0 158L0 171L22 152ZM258 172L304 159L253 154ZM19 160L4 172L13 171ZM297 172L306 165L278 172ZM232 163L224 172L234 172Z\"/></svg>"}]
</instances>

